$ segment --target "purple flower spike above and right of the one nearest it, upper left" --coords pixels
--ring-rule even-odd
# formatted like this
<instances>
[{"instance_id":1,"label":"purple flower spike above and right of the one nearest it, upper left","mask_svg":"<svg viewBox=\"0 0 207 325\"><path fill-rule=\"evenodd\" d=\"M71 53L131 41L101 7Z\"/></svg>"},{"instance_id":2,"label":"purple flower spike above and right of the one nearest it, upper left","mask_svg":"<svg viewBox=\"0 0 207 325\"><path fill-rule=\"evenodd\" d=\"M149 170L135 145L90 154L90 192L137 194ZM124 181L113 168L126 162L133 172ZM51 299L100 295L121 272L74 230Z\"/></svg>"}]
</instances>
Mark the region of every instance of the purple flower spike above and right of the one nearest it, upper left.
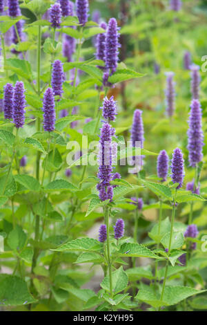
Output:
<instances>
[{"instance_id":1,"label":"purple flower spike above and right of the one nearest it, upper left","mask_svg":"<svg viewBox=\"0 0 207 325\"><path fill-rule=\"evenodd\" d=\"M61 96L63 93L63 64L58 59L52 64L51 84L54 96Z\"/></svg>"}]
</instances>

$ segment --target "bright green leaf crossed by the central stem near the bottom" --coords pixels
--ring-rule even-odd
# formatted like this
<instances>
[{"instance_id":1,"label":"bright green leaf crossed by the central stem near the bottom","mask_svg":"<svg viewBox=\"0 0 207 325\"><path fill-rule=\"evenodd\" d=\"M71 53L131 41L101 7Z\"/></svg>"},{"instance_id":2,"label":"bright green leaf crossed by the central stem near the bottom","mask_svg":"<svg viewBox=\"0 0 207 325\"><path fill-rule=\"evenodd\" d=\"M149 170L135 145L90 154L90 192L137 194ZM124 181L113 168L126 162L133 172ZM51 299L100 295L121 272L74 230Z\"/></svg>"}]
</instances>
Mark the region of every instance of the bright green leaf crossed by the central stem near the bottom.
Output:
<instances>
[{"instance_id":1,"label":"bright green leaf crossed by the central stem near the bottom","mask_svg":"<svg viewBox=\"0 0 207 325\"><path fill-rule=\"evenodd\" d=\"M123 291L128 284L128 276L124 272L123 267L121 266L118 270L112 272L112 292L116 295ZM101 282L101 288L110 293L110 281L109 276L107 275Z\"/></svg>"}]
</instances>

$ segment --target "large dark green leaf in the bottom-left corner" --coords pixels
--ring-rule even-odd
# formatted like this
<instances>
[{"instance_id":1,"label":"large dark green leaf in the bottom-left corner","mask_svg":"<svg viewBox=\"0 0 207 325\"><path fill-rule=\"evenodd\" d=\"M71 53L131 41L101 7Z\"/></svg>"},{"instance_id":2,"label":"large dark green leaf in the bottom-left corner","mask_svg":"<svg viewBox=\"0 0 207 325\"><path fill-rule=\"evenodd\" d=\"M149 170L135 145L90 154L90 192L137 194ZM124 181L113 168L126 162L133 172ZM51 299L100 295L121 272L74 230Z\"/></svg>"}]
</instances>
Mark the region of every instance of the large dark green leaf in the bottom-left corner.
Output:
<instances>
[{"instance_id":1,"label":"large dark green leaf in the bottom-left corner","mask_svg":"<svg viewBox=\"0 0 207 325\"><path fill-rule=\"evenodd\" d=\"M13 275L0 275L0 306L19 306L36 302L26 282Z\"/></svg>"}]
</instances>

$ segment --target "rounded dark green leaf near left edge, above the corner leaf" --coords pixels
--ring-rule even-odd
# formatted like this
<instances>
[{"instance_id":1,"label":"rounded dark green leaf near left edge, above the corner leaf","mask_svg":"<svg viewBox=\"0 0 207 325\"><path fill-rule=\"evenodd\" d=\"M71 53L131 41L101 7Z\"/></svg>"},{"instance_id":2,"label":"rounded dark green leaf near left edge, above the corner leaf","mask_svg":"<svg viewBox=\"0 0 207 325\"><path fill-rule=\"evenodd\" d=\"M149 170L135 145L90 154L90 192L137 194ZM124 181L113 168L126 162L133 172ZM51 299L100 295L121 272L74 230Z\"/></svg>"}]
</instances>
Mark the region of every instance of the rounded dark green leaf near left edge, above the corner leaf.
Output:
<instances>
[{"instance_id":1,"label":"rounded dark green leaf near left edge, above the corner leaf","mask_svg":"<svg viewBox=\"0 0 207 325\"><path fill-rule=\"evenodd\" d=\"M26 243L26 233L17 225L9 234L7 243L12 250L21 250Z\"/></svg>"}]
</instances>

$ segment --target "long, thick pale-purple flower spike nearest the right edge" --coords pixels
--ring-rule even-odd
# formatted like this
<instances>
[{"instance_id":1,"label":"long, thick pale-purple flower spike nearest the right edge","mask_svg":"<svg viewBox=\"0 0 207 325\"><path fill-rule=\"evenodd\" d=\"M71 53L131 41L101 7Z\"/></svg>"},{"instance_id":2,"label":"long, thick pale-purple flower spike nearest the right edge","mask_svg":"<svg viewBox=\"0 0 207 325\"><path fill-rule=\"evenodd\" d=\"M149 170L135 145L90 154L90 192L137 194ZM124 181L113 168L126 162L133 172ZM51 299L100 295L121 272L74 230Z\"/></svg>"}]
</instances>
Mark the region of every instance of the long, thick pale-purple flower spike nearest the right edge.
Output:
<instances>
[{"instance_id":1,"label":"long, thick pale-purple flower spike nearest the right edge","mask_svg":"<svg viewBox=\"0 0 207 325\"><path fill-rule=\"evenodd\" d=\"M191 103L188 120L188 160L190 166L195 167L203 158L204 133L202 131L202 112L198 100Z\"/></svg>"}]
</instances>

